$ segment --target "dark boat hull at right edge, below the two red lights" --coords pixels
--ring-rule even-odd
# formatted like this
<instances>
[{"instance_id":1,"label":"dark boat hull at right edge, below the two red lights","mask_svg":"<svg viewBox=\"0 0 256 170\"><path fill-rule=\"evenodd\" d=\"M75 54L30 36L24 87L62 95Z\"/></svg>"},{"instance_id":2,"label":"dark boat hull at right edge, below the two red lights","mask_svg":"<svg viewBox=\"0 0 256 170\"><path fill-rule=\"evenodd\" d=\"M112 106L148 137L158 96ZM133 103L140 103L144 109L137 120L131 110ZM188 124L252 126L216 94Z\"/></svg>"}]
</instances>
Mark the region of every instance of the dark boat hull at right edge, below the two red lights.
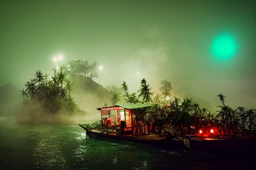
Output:
<instances>
[{"instance_id":1,"label":"dark boat hull at right edge, below the two red lights","mask_svg":"<svg viewBox=\"0 0 256 170\"><path fill-rule=\"evenodd\" d=\"M192 151L205 151L212 154L256 153L256 137L239 138L205 138L196 135L185 135L184 143Z\"/></svg>"}]
</instances>

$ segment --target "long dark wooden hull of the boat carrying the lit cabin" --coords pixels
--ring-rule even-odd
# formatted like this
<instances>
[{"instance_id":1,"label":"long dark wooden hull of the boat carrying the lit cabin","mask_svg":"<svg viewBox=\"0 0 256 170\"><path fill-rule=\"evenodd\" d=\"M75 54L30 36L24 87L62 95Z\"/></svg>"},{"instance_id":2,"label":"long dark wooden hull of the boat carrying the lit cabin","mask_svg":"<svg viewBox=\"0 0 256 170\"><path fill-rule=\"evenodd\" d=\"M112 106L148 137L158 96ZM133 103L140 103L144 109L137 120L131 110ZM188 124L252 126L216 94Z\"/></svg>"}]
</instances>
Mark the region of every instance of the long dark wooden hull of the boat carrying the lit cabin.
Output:
<instances>
[{"instance_id":1,"label":"long dark wooden hull of the boat carrying the lit cabin","mask_svg":"<svg viewBox=\"0 0 256 170\"><path fill-rule=\"evenodd\" d=\"M183 140L172 140L166 139L165 137L159 137L158 135L146 135L146 136L137 136L133 137L132 135L117 135L115 133L106 134L98 133L92 130L86 129L83 125L79 124L84 130L86 130L86 135L89 137L94 137L101 140L107 140L110 142L116 143L126 143L136 146L158 148L158 149L167 149L175 151L184 151L188 150L185 146Z\"/></svg>"}]
</instances>

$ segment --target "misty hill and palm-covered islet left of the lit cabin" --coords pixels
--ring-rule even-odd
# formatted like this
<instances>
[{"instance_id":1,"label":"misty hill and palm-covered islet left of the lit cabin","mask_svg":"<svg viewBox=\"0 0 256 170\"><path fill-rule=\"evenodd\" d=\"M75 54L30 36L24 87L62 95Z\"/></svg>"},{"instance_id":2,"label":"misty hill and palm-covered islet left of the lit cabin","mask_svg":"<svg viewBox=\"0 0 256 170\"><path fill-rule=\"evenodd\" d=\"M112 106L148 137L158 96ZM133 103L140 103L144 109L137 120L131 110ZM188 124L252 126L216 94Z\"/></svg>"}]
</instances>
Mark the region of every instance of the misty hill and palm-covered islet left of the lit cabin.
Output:
<instances>
[{"instance_id":1,"label":"misty hill and palm-covered islet left of the lit cabin","mask_svg":"<svg viewBox=\"0 0 256 170\"><path fill-rule=\"evenodd\" d=\"M51 124L58 123L59 116L72 116L65 117L65 120L85 116L89 113L84 106L92 106L92 103L99 105L98 102L102 103L100 99L110 98L110 93L93 81L98 77L96 62L90 65L88 61L72 60L52 71L50 75L37 69L34 77L25 82L25 87L20 90L23 104L19 109L22 113L18 120L22 120L22 123L43 124L45 120ZM76 100L73 95L77 97Z\"/></svg>"}]
</instances>

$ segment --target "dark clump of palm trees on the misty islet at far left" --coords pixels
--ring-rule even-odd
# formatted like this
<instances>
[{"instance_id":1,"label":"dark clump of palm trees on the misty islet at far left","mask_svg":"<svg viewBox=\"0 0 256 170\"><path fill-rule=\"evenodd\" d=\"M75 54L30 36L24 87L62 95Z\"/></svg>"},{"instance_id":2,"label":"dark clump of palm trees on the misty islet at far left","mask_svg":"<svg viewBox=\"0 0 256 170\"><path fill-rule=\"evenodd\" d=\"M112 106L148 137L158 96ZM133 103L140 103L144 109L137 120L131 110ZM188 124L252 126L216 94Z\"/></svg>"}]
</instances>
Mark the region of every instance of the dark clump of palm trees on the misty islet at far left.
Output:
<instances>
[{"instance_id":1,"label":"dark clump of palm trees on the misty islet at far left","mask_svg":"<svg viewBox=\"0 0 256 170\"><path fill-rule=\"evenodd\" d=\"M43 76L43 73L37 69L35 79L27 81L24 84L25 90L20 90L22 92L20 95L25 101L24 104L30 104L29 101L37 101L52 113L64 107L66 110L71 111L70 113L78 111L85 114L85 111L77 108L77 104L70 96L70 91L73 90L72 83L66 78L63 68L61 67L58 71L53 69L53 72L54 75L49 79L49 74ZM30 97L30 100L27 100L28 97Z\"/></svg>"}]
</instances>

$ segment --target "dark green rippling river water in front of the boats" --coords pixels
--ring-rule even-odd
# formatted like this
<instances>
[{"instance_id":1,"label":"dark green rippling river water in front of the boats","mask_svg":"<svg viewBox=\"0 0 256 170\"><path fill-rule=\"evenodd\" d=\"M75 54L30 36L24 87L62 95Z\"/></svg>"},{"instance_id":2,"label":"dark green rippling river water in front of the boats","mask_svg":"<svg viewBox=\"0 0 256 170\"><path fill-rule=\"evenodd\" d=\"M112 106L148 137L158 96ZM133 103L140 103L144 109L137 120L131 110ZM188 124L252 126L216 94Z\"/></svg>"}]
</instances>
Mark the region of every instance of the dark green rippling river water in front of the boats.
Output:
<instances>
[{"instance_id":1,"label":"dark green rippling river water in front of the boats","mask_svg":"<svg viewBox=\"0 0 256 170\"><path fill-rule=\"evenodd\" d=\"M255 155L221 157L89 138L79 125L21 125L0 119L0 169L255 169Z\"/></svg>"}]
</instances>

